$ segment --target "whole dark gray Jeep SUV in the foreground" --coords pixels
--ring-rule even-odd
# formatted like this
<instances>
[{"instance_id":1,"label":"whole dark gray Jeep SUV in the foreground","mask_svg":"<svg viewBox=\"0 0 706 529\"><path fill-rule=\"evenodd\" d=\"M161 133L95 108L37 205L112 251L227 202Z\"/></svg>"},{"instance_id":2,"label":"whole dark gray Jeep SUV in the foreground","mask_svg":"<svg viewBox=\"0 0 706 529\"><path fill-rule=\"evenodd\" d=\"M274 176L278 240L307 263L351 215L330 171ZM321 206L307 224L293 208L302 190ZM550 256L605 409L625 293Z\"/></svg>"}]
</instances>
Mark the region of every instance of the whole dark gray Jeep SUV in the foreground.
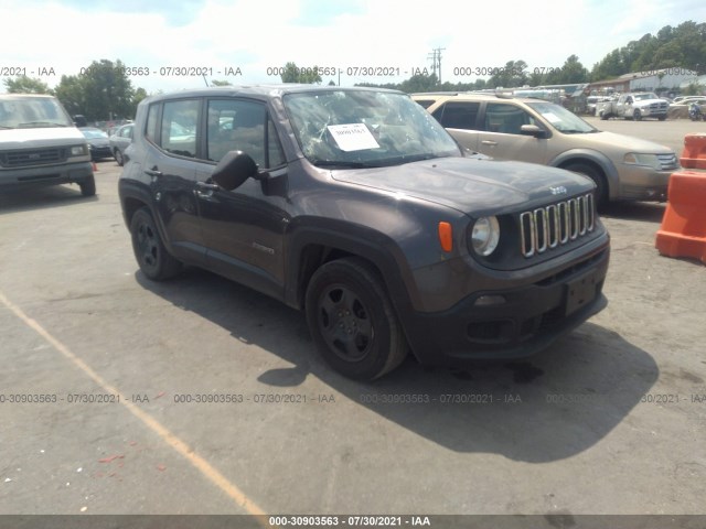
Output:
<instances>
[{"instance_id":1,"label":"whole dark gray Jeep SUV in the foreground","mask_svg":"<svg viewBox=\"0 0 706 529\"><path fill-rule=\"evenodd\" d=\"M206 88L140 102L118 188L147 278L188 263L249 285L373 379L408 349L526 356L606 304L593 183L464 152L395 90Z\"/></svg>"}]
</instances>

